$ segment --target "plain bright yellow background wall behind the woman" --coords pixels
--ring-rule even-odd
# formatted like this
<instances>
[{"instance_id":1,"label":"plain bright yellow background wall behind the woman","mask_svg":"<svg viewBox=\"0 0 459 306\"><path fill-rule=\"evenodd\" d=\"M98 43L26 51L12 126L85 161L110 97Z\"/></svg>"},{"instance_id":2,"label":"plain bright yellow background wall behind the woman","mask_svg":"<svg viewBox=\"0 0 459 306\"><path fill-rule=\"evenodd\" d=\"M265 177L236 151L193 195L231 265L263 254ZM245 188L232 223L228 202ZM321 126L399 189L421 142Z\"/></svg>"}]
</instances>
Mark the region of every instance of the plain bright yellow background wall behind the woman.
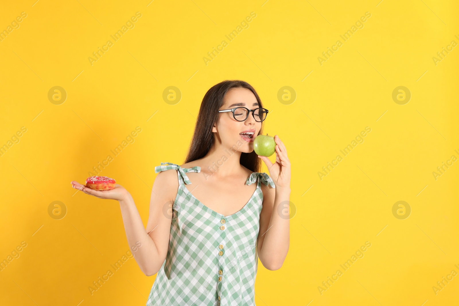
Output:
<instances>
[{"instance_id":1,"label":"plain bright yellow background wall behind the woman","mask_svg":"<svg viewBox=\"0 0 459 306\"><path fill-rule=\"evenodd\" d=\"M134 259L90 295L129 247L118 202L75 194L70 182L83 183L139 126L101 174L129 190L146 224L154 167L183 163L203 95L242 79L270 110L265 133L287 147L297 207L283 267L259 263L257 305L456 305L459 276L437 295L432 286L459 273L459 162L437 180L432 172L459 157L459 47L437 65L432 57L459 43L458 10L432 0L3 1L0 29L27 17L0 42L0 145L27 132L0 157L0 259L27 247L0 272L0 304L145 305L155 277ZM92 52L137 11L134 28L91 66ZM252 11L229 42L225 34ZM367 11L364 28L343 42ZM48 100L54 86L67 92L61 105ZM168 86L181 91L179 103L162 99ZM283 86L295 90L293 103L277 99ZM392 100L397 86L410 90L409 103ZM367 126L364 143L320 180ZM48 215L56 200L67 207L60 220ZM404 220L392 215L399 200L411 207ZM321 295L318 286L365 241L364 257Z\"/></svg>"}]
</instances>

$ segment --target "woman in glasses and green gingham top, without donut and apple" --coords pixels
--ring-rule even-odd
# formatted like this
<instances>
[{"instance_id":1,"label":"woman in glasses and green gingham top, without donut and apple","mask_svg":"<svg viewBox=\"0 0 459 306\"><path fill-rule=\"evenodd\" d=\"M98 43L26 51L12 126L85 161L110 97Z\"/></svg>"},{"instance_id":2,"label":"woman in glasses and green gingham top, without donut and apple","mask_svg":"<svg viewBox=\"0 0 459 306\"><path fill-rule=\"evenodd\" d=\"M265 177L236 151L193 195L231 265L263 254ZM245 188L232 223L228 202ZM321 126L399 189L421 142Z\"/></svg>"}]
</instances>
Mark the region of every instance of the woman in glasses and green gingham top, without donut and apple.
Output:
<instances>
[{"instance_id":1,"label":"woman in glasses and green gingham top, without donut and apple","mask_svg":"<svg viewBox=\"0 0 459 306\"><path fill-rule=\"evenodd\" d=\"M244 81L209 89L185 163L155 167L146 229L119 184L95 191L72 181L88 195L119 201L129 245L141 243L135 260L147 276L158 273L146 305L255 305L257 258L269 270L282 266L291 168L277 135L274 164L253 150L267 113ZM258 172L260 159L271 177Z\"/></svg>"}]
</instances>

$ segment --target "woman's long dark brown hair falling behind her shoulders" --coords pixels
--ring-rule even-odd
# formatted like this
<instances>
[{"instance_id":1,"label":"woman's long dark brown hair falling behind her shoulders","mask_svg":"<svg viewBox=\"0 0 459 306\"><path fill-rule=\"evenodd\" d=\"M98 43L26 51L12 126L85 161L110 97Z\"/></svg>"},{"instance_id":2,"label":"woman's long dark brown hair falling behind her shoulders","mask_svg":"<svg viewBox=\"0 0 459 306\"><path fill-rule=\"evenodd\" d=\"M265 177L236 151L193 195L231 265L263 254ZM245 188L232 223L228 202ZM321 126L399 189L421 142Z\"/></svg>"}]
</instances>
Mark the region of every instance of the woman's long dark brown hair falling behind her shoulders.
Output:
<instances>
[{"instance_id":1,"label":"woman's long dark brown hair falling behind her shoulders","mask_svg":"<svg viewBox=\"0 0 459 306\"><path fill-rule=\"evenodd\" d=\"M257 98L258 107L263 107L257 91L247 82L241 80L225 80L213 85L207 90L206 95L202 98L201 107L199 108L198 118L196 120L195 132L191 140L185 163L196 161L204 156L214 145L215 139L212 133L212 127L218 122L218 110L223 105L223 98L232 88L246 88L252 91ZM263 122L258 135L263 134ZM229 156L228 156L229 157ZM241 153L240 164L253 172L260 172L262 161L258 158L257 153Z\"/></svg>"}]
</instances>

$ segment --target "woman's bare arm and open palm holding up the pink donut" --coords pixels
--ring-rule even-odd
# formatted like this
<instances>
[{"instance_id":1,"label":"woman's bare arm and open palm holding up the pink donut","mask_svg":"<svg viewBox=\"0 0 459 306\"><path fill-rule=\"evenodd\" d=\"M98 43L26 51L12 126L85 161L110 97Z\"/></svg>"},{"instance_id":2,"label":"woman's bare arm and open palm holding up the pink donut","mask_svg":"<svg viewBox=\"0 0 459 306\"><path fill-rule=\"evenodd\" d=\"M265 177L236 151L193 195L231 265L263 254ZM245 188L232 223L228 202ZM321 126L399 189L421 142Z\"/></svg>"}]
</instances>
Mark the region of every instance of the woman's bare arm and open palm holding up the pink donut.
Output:
<instances>
[{"instance_id":1,"label":"woman's bare arm and open palm holding up the pink donut","mask_svg":"<svg viewBox=\"0 0 459 306\"><path fill-rule=\"evenodd\" d=\"M117 184L112 190L97 191L72 181L72 187L100 199L118 200L129 247L136 249L135 261L147 276L156 274L166 259L168 251L171 208L177 194L176 171L158 173L151 190L150 214L146 228L130 193ZM164 211L164 212L163 212Z\"/></svg>"}]
</instances>

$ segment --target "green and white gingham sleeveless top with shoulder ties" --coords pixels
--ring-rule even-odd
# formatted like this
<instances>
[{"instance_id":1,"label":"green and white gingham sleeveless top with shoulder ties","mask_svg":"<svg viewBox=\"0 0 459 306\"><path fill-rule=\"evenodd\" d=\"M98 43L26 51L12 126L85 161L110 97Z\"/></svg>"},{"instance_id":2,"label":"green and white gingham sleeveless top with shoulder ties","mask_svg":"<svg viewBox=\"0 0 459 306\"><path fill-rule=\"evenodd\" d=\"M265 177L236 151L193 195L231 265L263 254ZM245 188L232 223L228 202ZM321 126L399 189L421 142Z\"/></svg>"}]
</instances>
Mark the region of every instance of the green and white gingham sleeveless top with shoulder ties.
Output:
<instances>
[{"instance_id":1,"label":"green and white gingham sleeveless top with shoulder ties","mask_svg":"<svg viewBox=\"0 0 459 306\"><path fill-rule=\"evenodd\" d=\"M240 211L225 217L185 187L191 184L186 173L200 172L201 167L182 169L162 162L155 173L169 169L178 170L179 189L172 206L168 253L146 305L255 305L256 245L263 203L260 182L275 188L273 180L264 172L253 172L246 180L246 185L257 182L252 197Z\"/></svg>"}]
</instances>

